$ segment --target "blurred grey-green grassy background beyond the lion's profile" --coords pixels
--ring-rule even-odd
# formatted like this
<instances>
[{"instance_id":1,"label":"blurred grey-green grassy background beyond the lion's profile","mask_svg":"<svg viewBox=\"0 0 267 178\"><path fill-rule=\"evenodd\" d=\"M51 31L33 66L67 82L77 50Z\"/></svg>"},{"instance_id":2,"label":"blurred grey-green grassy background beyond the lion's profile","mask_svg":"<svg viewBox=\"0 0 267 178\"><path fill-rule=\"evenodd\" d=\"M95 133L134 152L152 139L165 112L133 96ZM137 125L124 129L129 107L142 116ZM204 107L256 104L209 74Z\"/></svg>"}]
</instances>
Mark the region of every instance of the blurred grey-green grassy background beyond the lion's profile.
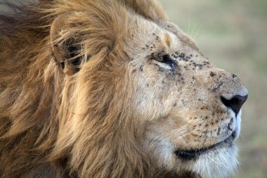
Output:
<instances>
[{"instance_id":1,"label":"blurred grey-green grassy background beyond the lion's profile","mask_svg":"<svg viewBox=\"0 0 267 178\"><path fill-rule=\"evenodd\" d=\"M234 177L267 177L267 0L161 0L169 19L219 68L249 90L242 108L240 167Z\"/></svg>"}]
</instances>

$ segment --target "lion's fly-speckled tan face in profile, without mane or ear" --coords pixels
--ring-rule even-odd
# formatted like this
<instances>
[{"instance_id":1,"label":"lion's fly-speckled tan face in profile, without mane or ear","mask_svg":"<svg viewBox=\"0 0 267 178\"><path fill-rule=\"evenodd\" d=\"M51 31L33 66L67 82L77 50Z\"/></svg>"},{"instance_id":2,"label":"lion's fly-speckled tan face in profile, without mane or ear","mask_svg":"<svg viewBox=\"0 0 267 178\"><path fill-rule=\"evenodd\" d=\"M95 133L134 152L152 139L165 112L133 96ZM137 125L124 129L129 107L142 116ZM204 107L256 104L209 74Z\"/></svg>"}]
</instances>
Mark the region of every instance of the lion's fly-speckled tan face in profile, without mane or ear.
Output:
<instances>
[{"instance_id":1,"label":"lion's fly-speckled tan face in profile, without mane or ear","mask_svg":"<svg viewBox=\"0 0 267 178\"><path fill-rule=\"evenodd\" d=\"M233 141L247 89L202 56L183 32L149 25L139 24L136 42L129 42L136 49L129 70L136 78L136 115L146 125L145 151L167 170L235 170Z\"/></svg>"}]
</instances>

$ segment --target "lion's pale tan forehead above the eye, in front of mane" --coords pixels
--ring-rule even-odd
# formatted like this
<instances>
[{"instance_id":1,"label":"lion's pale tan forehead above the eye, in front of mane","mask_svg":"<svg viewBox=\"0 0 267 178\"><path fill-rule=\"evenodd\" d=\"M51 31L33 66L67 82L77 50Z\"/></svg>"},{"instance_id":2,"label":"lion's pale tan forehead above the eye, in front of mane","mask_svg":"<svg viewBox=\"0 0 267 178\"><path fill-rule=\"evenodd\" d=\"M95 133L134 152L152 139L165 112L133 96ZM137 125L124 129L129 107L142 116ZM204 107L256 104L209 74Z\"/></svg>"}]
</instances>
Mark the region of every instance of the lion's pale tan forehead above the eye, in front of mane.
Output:
<instances>
[{"instance_id":1,"label":"lion's pale tan forehead above the eye, in front of mane","mask_svg":"<svg viewBox=\"0 0 267 178\"><path fill-rule=\"evenodd\" d=\"M178 27L167 24L158 24L142 17L136 17L129 30L129 43L139 46L146 51L162 49L171 52L188 46L190 50L197 48L192 39Z\"/></svg>"}]
</instances>

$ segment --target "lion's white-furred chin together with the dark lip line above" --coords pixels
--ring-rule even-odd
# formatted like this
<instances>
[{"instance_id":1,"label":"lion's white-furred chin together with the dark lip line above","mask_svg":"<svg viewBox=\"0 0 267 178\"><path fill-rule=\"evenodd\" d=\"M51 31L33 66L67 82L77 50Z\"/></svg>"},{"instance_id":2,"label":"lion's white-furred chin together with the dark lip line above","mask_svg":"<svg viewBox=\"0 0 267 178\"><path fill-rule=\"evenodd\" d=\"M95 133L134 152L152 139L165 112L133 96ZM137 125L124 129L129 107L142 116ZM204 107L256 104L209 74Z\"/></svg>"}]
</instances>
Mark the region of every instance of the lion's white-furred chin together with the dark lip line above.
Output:
<instances>
[{"instance_id":1,"label":"lion's white-furred chin together with the dark lip line above","mask_svg":"<svg viewBox=\"0 0 267 178\"><path fill-rule=\"evenodd\" d=\"M228 177L235 172L238 165L234 139L235 133L207 148L195 151L176 151L176 156L188 165L183 168L200 174L202 177Z\"/></svg>"}]
</instances>

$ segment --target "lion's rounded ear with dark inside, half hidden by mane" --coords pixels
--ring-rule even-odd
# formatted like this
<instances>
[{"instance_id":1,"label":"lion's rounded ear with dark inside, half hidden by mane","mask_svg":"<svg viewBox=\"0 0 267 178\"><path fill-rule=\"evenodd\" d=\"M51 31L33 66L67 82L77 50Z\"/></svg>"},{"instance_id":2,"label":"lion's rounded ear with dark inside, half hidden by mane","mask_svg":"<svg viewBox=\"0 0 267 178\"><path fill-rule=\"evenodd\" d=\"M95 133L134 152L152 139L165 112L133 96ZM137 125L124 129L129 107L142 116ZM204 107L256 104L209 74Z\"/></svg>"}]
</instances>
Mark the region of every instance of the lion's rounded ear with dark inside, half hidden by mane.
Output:
<instances>
[{"instance_id":1,"label":"lion's rounded ear with dark inside, half hidden by mane","mask_svg":"<svg viewBox=\"0 0 267 178\"><path fill-rule=\"evenodd\" d=\"M63 37L63 30L67 29L67 14L56 18L50 30L50 42L53 56L60 63L64 72L72 75L78 72L82 58L79 56L81 49L79 40L74 37Z\"/></svg>"}]
</instances>

